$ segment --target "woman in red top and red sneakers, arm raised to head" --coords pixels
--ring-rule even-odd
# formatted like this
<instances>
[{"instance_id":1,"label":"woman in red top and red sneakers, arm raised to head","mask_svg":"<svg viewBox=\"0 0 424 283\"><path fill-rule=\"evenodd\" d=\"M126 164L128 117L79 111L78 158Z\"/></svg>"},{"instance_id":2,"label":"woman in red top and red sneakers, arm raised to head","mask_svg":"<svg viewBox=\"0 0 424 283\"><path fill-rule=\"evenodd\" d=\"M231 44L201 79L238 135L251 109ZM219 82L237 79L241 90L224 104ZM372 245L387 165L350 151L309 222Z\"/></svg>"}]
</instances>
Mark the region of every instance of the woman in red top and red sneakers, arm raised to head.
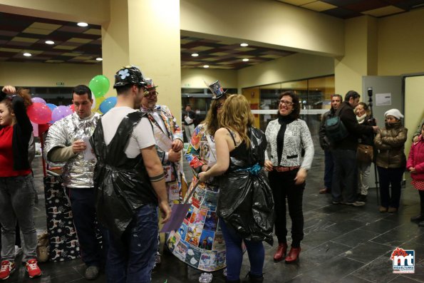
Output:
<instances>
[{"instance_id":1,"label":"woman in red top and red sneakers, arm raised to head","mask_svg":"<svg viewBox=\"0 0 424 283\"><path fill-rule=\"evenodd\" d=\"M16 96L7 96L17 93ZM37 264L37 235L33 207L35 195L28 148L32 125L26 107L31 105L29 90L4 86L0 93L0 279L14 272L15 232L19 222L24 235L26 272L30 278L41 275ZM18 264L19 267L19 264Z\"/></svg>"}]
</instances>

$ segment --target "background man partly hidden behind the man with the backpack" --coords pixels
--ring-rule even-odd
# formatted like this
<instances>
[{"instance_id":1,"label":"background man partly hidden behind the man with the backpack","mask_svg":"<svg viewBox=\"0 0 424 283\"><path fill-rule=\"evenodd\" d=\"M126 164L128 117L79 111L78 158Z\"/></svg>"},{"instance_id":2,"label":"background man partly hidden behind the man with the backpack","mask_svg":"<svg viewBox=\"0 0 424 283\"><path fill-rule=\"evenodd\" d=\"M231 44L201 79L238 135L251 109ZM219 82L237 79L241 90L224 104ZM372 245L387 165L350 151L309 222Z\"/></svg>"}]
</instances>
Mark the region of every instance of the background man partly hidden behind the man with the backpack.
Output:
<instances>
[{"instance_id":1,"label":"background man partly hidden behind the man with the backpack","mask_svg":"<svg viewBox=\"0 0 424 283\"><path fill-rule=\"evenodd\" d=\"M324 150L324 188L319 190L320 194L331 192L331 184L333 181L334 160L331 155L331 145L329 138L326 137L326 120L333 117L336 110L341 105L343 98L340 94L331 96L331 108L324 113L321 118L321 125L319 127L319 145Z\"/></svg>"}]
</instances>

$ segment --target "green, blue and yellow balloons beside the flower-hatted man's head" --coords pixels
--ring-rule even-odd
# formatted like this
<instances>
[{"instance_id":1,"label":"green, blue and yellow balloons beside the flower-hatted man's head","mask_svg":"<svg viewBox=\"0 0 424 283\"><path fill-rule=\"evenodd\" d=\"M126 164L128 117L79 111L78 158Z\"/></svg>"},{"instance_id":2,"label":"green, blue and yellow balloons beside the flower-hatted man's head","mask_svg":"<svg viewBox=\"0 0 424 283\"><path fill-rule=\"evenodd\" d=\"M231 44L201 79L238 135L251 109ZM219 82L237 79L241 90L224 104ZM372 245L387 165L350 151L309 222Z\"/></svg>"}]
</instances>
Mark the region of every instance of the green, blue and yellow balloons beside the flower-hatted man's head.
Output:
<instances>
[{"instance_id":1,"label":"green, blue and yellow balloons beside the flower-hatted man's head","mask_svg":"<svg viewBox=\"0 0 424 283\"><path fill-rule=\"evenodd\" d=\"M95 112L107 113L108 110L113 108L116 104L116 97L111 96L105 98L104 95L109 90L109 80L103 75L95 76L91 79L90 83L88 83L88 87L91 89L93 93L93 106L91 109ZM94 100L97 100L96 103Z\"/></svg>"}]
</instances>

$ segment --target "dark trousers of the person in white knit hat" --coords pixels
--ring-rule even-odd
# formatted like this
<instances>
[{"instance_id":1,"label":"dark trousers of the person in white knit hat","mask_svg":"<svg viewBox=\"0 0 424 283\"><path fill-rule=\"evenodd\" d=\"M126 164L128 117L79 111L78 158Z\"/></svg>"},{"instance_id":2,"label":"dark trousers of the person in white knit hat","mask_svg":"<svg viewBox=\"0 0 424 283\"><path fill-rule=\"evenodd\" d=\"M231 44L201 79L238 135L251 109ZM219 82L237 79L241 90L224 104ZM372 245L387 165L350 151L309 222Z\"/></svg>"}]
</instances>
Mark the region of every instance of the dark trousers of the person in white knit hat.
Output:
<instances>
[{"instance_id":1,"label":"dark trousers of the person in white knit hat","mask_svg":"<svg viewBox=\"0 0 424 283\"><path fill-rule=\"evenodd\" d=\"M382 168L378 169L378 181L380 182L380 200L383 207L399 207L400 187L405 168ZM391 193L389 191L391 187Z\"/></svg>"}]
</instances>

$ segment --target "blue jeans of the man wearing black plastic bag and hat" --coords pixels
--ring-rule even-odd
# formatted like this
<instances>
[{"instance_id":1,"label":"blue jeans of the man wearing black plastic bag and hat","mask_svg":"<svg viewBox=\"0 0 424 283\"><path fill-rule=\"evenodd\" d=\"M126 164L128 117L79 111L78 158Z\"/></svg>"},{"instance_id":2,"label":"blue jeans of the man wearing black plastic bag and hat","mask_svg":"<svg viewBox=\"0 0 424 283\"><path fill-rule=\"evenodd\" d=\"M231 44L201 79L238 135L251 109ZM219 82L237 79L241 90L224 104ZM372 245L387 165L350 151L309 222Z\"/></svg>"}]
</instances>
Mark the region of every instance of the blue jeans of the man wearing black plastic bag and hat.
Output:
<instances>
[{"instance_id":1,"label":"blue jeans of the man wearing black plastic bag and hat","mask_svg":"<svg viewBox=\"0 0 424 283\"><path fill-rule=\"evenodd\" d=\"M106 274L109 283L150 283L157 252L157 210L143 205L120 238L110 233Z\"/></svg>"}]
</instances>

